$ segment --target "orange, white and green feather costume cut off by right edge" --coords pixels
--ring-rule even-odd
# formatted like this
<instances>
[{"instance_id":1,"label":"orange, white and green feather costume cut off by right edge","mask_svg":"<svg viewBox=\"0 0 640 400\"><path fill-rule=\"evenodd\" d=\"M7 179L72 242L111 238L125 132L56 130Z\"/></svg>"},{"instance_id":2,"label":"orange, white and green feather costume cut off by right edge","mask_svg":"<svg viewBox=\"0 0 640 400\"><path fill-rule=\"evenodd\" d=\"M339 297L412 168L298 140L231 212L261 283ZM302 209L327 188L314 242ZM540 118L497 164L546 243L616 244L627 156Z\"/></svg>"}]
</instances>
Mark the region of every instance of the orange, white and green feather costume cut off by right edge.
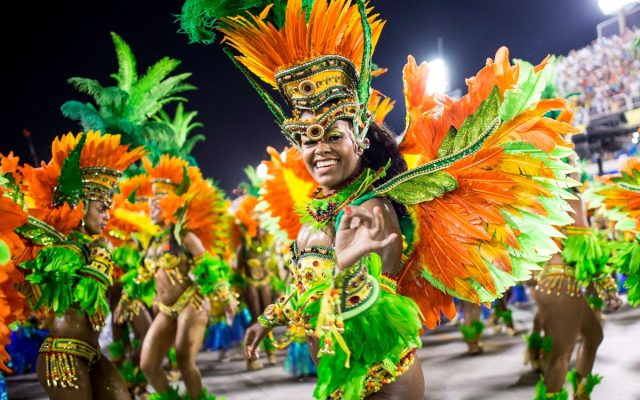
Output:
<instances>
[{"instance_id":1,"label":"orange, white and green feather costume cut off by right edge","mask_svg":"<svg viewBox=\"0 0 640 400\"><path fill-rule=\"evenodd\" d=\"M640 304L640 160L629 159L620 174L601 179L585 193L589 208L615 222L617 241L611 244L611 265L627 275L629 304Z\"/></svg>"}]
</instances>

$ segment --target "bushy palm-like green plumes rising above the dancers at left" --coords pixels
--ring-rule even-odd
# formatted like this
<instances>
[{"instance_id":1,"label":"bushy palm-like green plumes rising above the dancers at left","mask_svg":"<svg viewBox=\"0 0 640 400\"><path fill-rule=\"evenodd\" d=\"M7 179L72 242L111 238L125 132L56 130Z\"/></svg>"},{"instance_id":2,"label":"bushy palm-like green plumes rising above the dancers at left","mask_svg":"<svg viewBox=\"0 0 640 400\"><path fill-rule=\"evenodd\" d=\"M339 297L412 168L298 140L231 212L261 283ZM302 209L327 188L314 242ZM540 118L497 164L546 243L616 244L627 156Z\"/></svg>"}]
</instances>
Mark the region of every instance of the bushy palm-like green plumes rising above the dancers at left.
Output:
<instances>
[{"instance_id":1,"label":"bushy palm-like green plumes rising above the dancers at left","mask_svg":"<svg viewBox=\"0 0 640 400\"><path fill-rule=\"evenodd\" d=\"M89 78L70 78L69 83L93 97L95 104L67 101L61 107L62 113L80 121L85 131L119 133L125 144L146 146L153 161L168 153L195 164L189 153L205 137L189 135L202 124L193 122L196 112L185 113L182 102L186 99L179 96L196 89L186 83L191 73L171 75L180 61L164 57L139 77L129 45L117 34L111 36L118 58L118 72L111 77L117 86L103 86ZM179 104L172 120L163 108L174 102Z\"/></svg>"}]
</instances>

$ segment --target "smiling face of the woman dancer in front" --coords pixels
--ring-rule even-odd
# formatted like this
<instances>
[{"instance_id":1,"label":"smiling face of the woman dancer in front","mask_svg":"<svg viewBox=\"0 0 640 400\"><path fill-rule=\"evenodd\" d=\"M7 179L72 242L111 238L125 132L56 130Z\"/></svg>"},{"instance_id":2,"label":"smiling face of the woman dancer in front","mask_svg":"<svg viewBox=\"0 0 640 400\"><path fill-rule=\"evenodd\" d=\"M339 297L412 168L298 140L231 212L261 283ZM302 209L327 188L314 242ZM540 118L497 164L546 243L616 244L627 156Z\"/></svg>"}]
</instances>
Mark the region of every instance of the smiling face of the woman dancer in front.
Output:
<instances>
[{"instance_id":1,"label":"smiling face of the woman dancer in front","mask_svg":"<svg viewBox=\"0 0 640 400\"><path fill-rule=\"evenodd\" d=\"M302 119L313 114L305 112ZM301 137L302 159L313 179L324 189L336 189L360 168L361 151L353 138L351 123L338 120L319 140Z\"/></svg>"}]
</instances>

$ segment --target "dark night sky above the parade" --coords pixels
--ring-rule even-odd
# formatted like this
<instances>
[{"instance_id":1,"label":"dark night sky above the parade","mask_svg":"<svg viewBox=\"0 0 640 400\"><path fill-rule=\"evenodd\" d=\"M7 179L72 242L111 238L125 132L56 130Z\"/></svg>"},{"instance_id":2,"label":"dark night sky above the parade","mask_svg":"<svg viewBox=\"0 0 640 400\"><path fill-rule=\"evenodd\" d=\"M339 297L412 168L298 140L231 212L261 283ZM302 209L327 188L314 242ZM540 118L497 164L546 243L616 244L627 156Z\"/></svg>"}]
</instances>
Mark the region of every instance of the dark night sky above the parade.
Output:
<instances>
[{"instance_id":1,"label":"dark night sky above the parade","mask_svg":"<svg viewBox=\"0 0 640 400\"><path fill-rule=\"evenodd\" d=\"M230 190L244 179L243 167L266 157L265 147L282 148L271 114L245 78L223 55L219 45L189 44L177 33L175 15L181 1L111 0L45 2L56 8L37 8L40 2L21 2L5 15L2 140L0 152L13 150L30 161L22 137L28 128L40 159L49 159L54 136L79 132L76 121L59 111L67 100L91 101L66 80L73 76L115 85L110 74L117 60L109 32L118 33L137 58L138 73L164 56L182 61L174 74L192 72L188 82L198 87L186 92L187 111L199 112L207 136L194 150L205 175ZM413 54L420 62L437 55L443 40L450 68L450 86L480 69L502 45L511 56L537 62L547 53L566 54L596 37L596 24L606 19L596 0L371 0L387 25L374 61L389 72L377 78L376 88L399 100L387 118L401 131L404 124L402 67ZM17 7L17 9L15 8ZM10 16L9 16L10 15ZM9 30L13 18L17 29ZM172 111L170 112L172 114Z\"/></svg>"}]
</instances>

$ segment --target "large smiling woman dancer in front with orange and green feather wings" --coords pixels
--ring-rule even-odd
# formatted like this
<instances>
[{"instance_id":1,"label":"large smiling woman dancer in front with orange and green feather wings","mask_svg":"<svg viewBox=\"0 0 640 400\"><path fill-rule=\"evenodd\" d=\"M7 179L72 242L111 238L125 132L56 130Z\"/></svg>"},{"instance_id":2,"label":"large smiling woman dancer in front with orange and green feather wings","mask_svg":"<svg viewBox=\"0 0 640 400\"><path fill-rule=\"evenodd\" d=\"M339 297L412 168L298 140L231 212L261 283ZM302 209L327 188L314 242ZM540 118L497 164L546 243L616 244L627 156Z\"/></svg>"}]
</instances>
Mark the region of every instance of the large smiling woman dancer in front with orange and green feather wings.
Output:
<instances>
[{"instance_id":1,"label":"large smiling woman dancer in front with orange and green feather wings","mask_svg":"<svg viewBox=\"0 0 640 400\"><path fill-rule=\"evenodd\" d=\"M565 167L555 157L570 150L542 117L565 103L539 102L544 64L519 76L506 49L458 101L427 94L428 66L410 57L398 146L367 110L384 22L364 1L265 2L248 13L245 4L187 1L182 28L205 42L212 27L224 34L318 185L306 204L283 201L299 190L287 185L264 195L280 223L301 215L294 283L247 331L247 351L271 328L298 325L318 363L315 398L422 399L421 325L452 318L453 297L492 301L527 279L551 254L551 223L570 221L554 186Z\"/></svg>"}]
</instances>

